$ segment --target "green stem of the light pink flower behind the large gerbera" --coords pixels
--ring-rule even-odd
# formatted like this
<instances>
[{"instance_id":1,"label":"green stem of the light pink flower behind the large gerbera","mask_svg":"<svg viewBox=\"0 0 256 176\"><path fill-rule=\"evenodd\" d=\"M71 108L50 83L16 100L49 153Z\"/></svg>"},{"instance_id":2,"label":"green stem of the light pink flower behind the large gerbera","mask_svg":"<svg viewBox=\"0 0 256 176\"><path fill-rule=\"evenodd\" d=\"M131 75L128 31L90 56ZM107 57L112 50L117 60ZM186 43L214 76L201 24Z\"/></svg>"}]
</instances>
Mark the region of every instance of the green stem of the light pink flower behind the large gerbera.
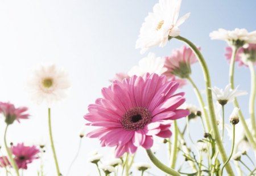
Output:
<instances>
[{"instance_id":1,"label":"green stem of the light pink flower behind the large gerbera","mask_svg":"<svg viewBox=\"0 0 256 176\"><path fill-rule=\"evenodd\" d=\"M200 103L202 112L203 112L203 117L205 118L205 122L207 123L207 130L210 131L210 121L209 121L209 117L208 117L208 113L207 110L205 109L205 104L204 104L204 100L203 97L201 96L201 93L199 91L199 89L197 88L196 84L193 82L193 80L191 79L191 77L189 76L187 78L189 80L189 82L192 84L194 91L196 93L197 99Z\"/></svg>"}]
</instances>

